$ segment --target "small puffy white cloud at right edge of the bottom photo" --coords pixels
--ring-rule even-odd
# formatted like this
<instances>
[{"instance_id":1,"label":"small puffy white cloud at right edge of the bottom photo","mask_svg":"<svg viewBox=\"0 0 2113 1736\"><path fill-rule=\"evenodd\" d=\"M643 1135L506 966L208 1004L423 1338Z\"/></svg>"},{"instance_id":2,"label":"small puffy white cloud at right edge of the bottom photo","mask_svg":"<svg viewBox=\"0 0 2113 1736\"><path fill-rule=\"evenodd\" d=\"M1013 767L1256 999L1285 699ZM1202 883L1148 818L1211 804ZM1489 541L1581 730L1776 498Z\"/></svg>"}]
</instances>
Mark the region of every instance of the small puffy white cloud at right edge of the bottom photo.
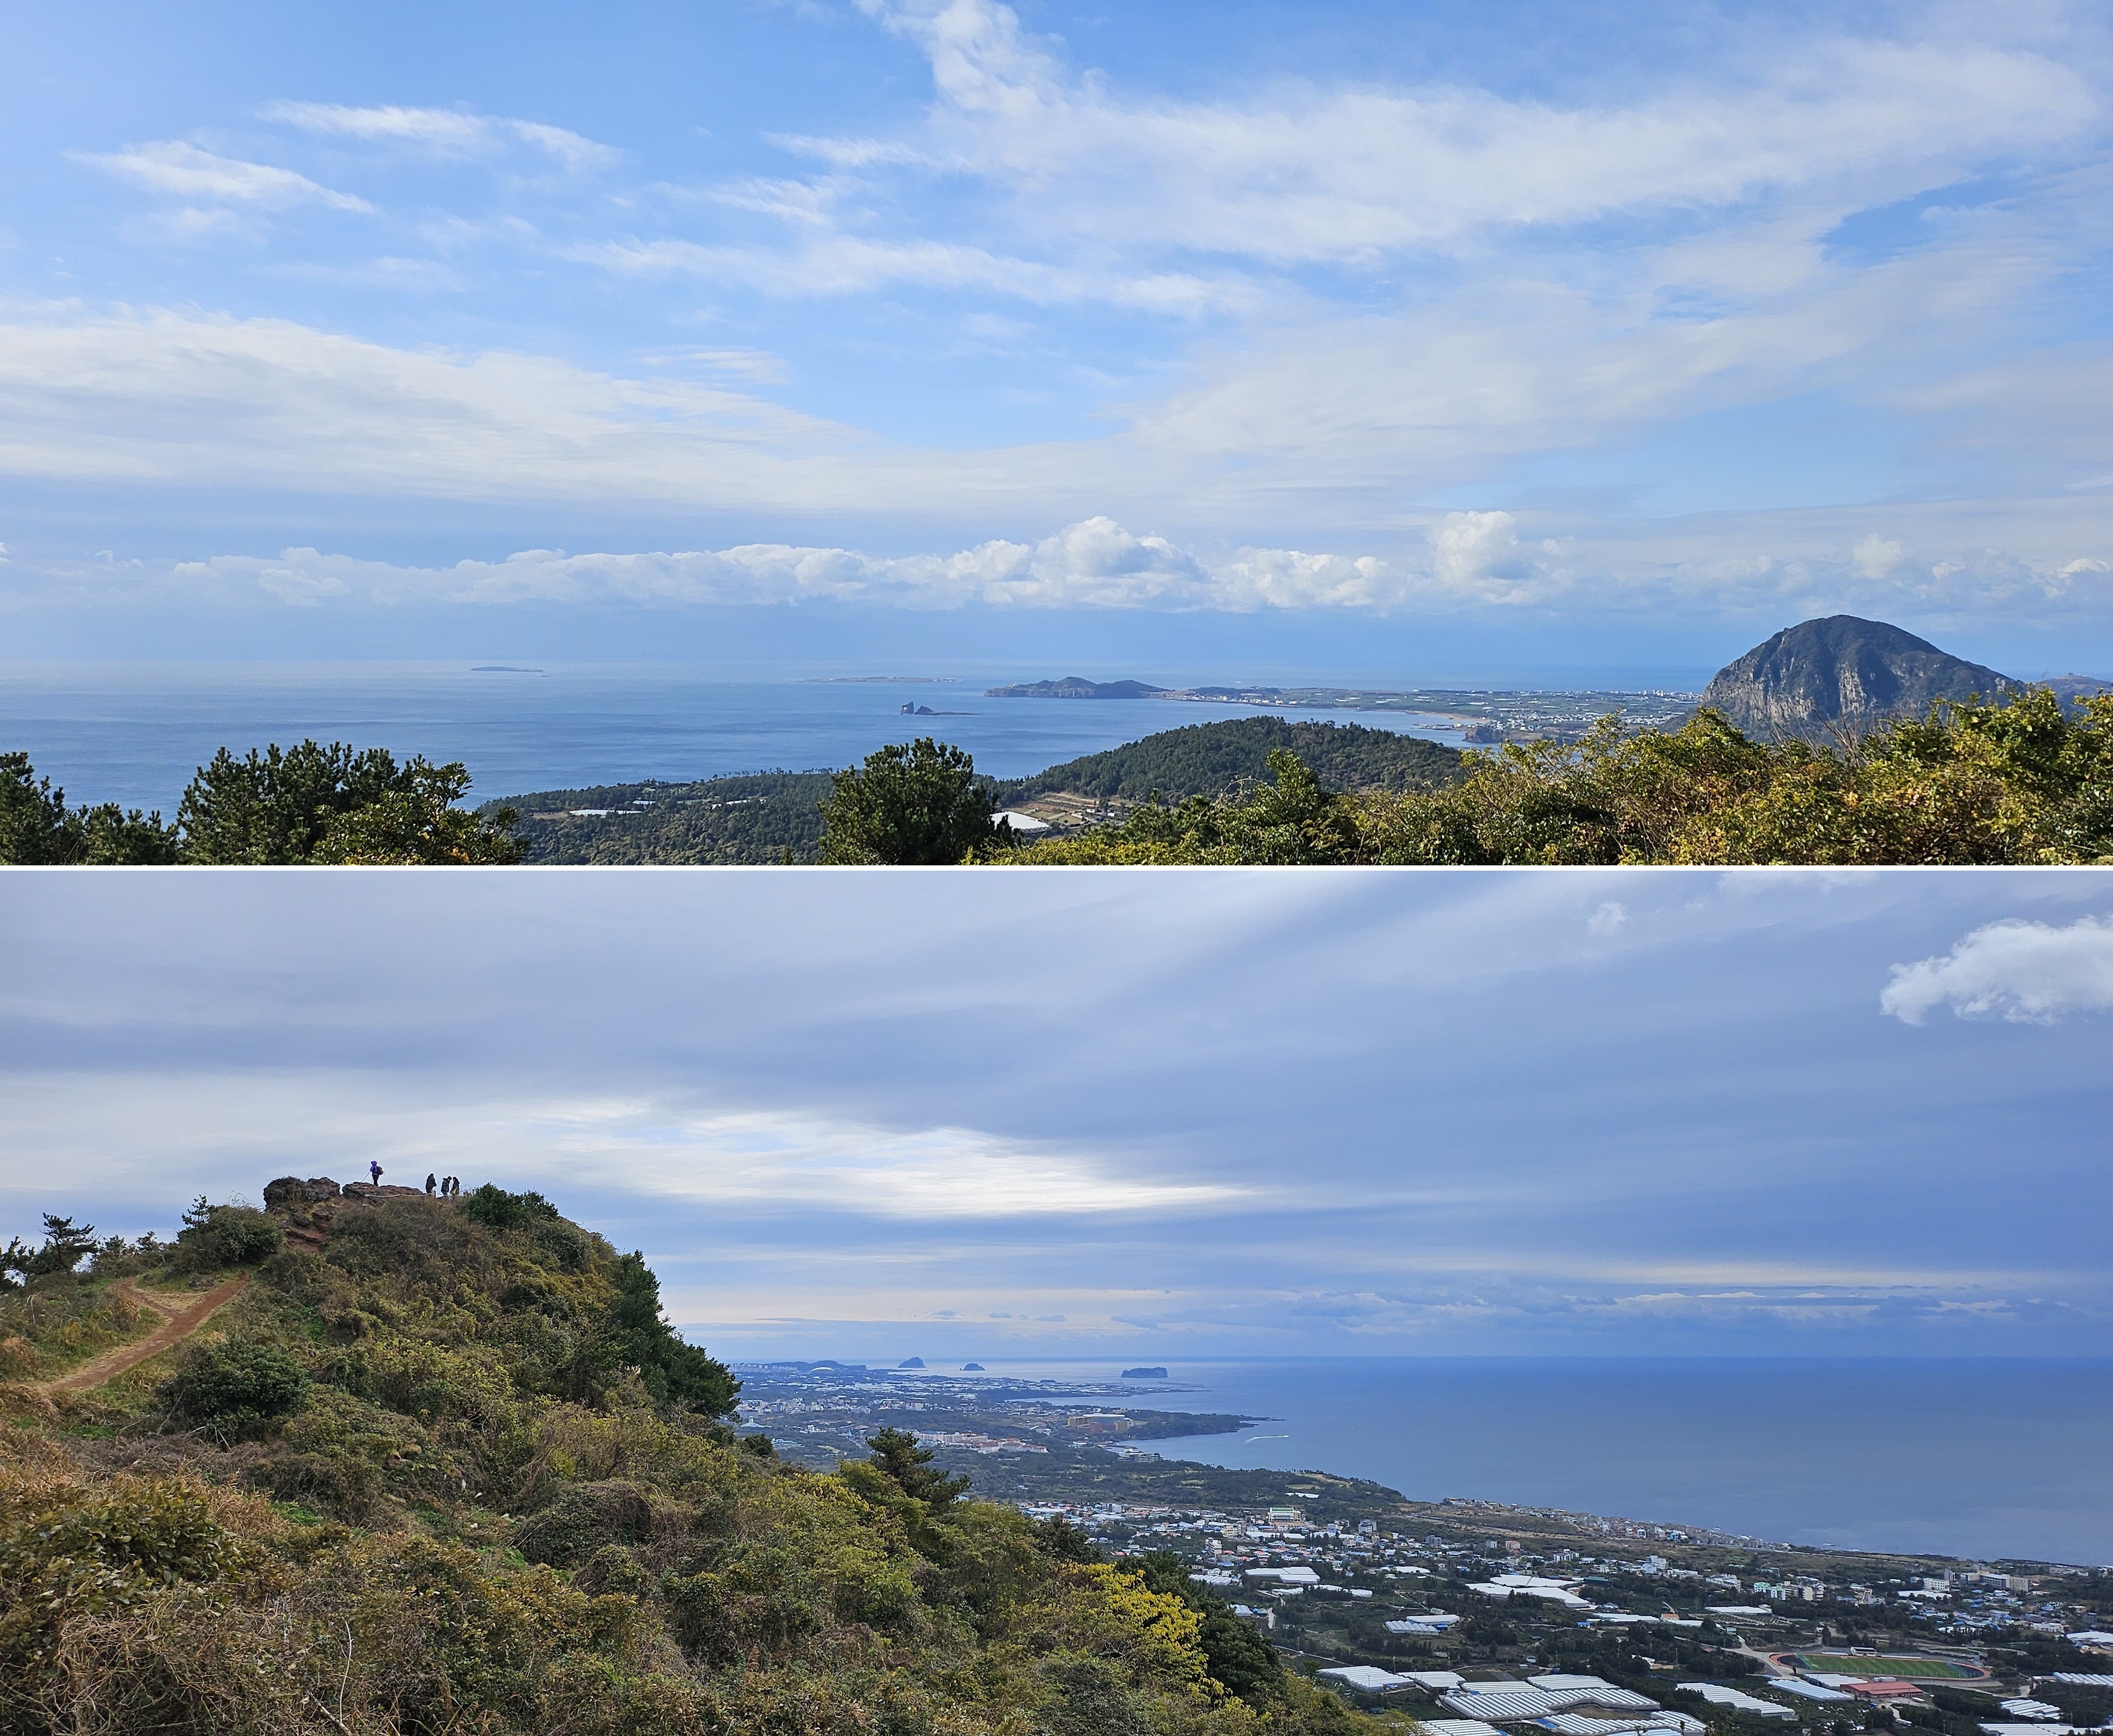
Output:
<instances>
[{"instance_id":1,"label":"small puffy white cloud at right edge of the bottom photo","mask_svg":"<svg viewBox=\"0 0 2113 1736\"><path fill-rule=\"evenodd\" d=\"M1959 1018L2001 1014L2018 1024L2105 1012L2113 1007L2113 917L2083 917L2069 927L1988 923L1942 959L1893 965L1878 1005L1906 1024L1921 1024L1942 1005Z\"/></svg>"}]
</instances>

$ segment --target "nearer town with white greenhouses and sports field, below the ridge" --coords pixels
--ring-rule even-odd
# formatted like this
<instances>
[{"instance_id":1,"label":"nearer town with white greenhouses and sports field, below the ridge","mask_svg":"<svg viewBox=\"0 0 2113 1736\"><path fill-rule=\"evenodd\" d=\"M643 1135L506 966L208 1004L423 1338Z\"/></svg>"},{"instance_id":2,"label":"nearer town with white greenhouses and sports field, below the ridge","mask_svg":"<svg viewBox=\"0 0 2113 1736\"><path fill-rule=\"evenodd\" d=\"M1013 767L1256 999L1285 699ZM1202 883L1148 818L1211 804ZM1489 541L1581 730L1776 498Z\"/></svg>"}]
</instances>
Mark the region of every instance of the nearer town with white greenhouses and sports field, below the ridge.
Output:
<instances>
[{"instance_id":1,"label":"nearer town with white greenhouses and sports field, below the ridge","mask_svg":"<svg viewBox=\"0 0 2113 1736\"><path fill-rule=\"evenodd\" d=\"M1929 1573L1490 1502L1439 1504L1452 1521L1411 1533L1323 1516L1321 1502L1291 1487L1259 1510L1023 1506L1116 1559L1179 1552L1316 1679L1435 1736L1747 1723L2073 1736L2113 1721L2105 1569ZM1610 1540L1562 1544L1553 1523Z\"/></svg>"}]
</instances>

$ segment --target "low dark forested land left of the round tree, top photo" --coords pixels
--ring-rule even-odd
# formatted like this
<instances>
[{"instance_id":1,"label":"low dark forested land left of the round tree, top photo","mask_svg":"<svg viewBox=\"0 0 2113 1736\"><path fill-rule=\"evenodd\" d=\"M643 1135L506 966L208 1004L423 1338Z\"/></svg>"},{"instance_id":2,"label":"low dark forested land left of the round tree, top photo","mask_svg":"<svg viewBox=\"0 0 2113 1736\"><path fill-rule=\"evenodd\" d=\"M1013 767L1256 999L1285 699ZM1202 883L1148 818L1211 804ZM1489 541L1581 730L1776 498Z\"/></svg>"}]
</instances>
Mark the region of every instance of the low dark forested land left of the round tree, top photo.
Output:
<instances>
[{"instance_id":1,"label":"low dark forested land left of the round tree, top photo","mask_svg":"<svg viewBox=\"0 0 2113 1736\"><path fill-rule=\"evenodd\" d=\"M507 796L522 862L814 862L826 771L759 771L699 784L604 784ZM492 809L499 803L490 805ZM606 815L571 809L609 809Z\"/></svg>"}]
</instances>

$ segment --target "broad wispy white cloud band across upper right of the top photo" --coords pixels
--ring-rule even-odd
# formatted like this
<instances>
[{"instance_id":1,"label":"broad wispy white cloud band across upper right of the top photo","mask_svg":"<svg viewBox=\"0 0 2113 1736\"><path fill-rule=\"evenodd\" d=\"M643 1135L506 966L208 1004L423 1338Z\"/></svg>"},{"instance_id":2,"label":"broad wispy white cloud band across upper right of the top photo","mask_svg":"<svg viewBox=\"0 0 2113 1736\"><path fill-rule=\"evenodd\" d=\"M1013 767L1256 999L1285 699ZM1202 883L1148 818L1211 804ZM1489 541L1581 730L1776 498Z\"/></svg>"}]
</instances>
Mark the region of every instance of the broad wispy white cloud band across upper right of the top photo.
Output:
<instances>
[{"instance_id":1,"label":"broad wispy white cloud band across upper right of the top photo","mask_svg":"<svg viewBox=\"0 0 2113 1736\"><path fill-rule=\"evenodd\" d=\"M1031 203L1044 232L1280 264L1764 190L1910 192L2098 114L2090 82L2041 53L1847 34L1777 49L1741 78L1593 108L1460 87L1152 101L1071 74L993 0L860 4L928 55L925 129L790 148L833 169L980 175Z\"/></svg>"}]
</instances>

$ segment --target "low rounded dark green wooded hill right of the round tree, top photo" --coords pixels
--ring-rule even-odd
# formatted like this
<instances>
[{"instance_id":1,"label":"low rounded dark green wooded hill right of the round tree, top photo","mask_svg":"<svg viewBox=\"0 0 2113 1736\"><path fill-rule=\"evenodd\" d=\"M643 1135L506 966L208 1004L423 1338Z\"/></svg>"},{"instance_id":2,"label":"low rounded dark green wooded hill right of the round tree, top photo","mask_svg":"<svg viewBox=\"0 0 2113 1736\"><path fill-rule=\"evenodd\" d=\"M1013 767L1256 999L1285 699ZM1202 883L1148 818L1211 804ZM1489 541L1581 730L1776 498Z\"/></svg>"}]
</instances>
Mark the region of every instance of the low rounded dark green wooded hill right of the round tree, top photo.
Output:
<instances>
[{"instance_id":1,"label":"low rounded dark green wooded hill right of the round tree, top photo","mask_svg":"<svg viewBox=\"0 0 2113 1736\"><path fill-rule=\"evenodd\" d=\"M1464 775L1464 754L1416 735L1289 718L1230 718L1147 735L1105 754L1002 784L1006 800L1071 792L1101 800L1223 796L1268 779L1272 752L1289 748L1329 790L1422 790Z\"/></svg>"}]
</instances>

